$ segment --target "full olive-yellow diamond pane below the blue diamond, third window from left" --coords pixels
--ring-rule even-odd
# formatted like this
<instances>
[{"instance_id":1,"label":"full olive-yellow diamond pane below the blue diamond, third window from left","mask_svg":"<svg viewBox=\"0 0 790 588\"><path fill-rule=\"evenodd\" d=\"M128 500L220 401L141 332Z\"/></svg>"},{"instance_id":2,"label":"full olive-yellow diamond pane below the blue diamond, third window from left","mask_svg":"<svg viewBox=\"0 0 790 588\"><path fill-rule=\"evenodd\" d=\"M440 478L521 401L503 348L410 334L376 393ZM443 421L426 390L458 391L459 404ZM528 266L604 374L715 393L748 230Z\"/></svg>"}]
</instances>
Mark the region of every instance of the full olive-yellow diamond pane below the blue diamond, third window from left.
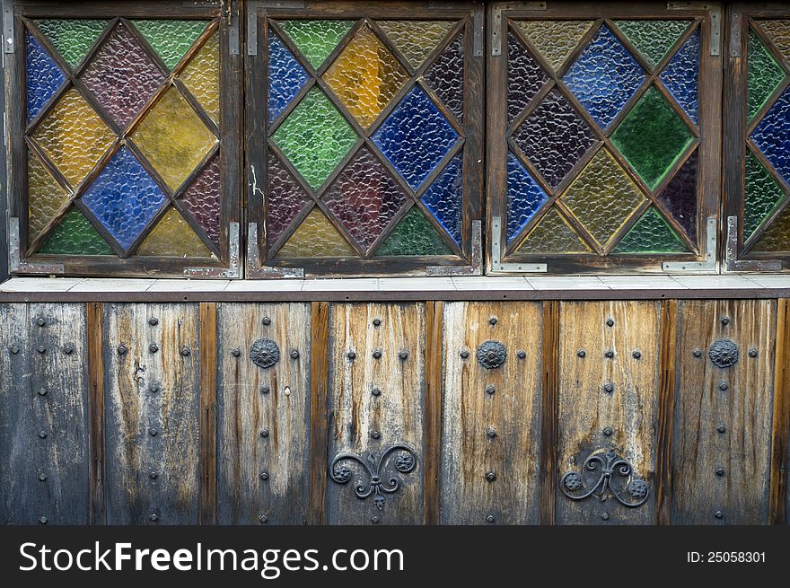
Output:
<instances>
[{"instance_id":1,"label":"full olive-yellow diamond pane below the blue diamond, third window from left","mask_svg":"<svg viewBox=\"0 0 790 588\"><path fill-rule=\"evenodd\" d=\"M593 239L602 246L645 202L645 195L606 149L592 157L562 195Z\"/></svg>"}]
</instances>

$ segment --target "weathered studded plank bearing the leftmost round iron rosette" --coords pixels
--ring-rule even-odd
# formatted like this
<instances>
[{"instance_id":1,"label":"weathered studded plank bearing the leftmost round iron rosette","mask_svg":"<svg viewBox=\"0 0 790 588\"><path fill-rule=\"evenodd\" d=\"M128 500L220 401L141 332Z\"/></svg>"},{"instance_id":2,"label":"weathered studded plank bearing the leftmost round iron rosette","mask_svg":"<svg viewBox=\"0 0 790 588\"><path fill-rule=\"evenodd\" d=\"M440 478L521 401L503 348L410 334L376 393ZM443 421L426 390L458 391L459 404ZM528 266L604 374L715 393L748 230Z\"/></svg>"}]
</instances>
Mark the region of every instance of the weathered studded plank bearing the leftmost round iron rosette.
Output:
<instances>
[{"instance_id":1,"label":"weathered studded plank bearing the leftmost round iron rosette","mask_svg":"<svg viewBox=\"0 0 790 588\"><path fill-rule=\"evenodd\" d=\"M217 310L217 522L303 524L310 480L311 306ZM253 364L257 341L276 364Z\"/></svg>"}]
</instances>

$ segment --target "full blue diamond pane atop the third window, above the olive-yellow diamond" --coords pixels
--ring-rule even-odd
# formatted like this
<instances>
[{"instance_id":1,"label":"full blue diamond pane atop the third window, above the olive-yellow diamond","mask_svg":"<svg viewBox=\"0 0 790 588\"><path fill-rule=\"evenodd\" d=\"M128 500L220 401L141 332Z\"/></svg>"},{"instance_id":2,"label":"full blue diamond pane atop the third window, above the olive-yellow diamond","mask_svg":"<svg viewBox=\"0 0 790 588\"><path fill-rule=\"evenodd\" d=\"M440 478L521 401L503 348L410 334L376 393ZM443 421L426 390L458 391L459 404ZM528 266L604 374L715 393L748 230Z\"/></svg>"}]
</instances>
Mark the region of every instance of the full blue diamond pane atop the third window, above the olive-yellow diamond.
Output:
<instances>
[{"instance_id":1,"label":"full blue diamond pane atop the third window, above the olive-yellow diamond","mask_svg":"<svg viewBox=\"0 0 790 588\"><path fill-rule=\"evenodd\" d=\"M610 126L644 81L645 72L606 25L563 77L601 128Z\"/></svg>"}]
</instances>

